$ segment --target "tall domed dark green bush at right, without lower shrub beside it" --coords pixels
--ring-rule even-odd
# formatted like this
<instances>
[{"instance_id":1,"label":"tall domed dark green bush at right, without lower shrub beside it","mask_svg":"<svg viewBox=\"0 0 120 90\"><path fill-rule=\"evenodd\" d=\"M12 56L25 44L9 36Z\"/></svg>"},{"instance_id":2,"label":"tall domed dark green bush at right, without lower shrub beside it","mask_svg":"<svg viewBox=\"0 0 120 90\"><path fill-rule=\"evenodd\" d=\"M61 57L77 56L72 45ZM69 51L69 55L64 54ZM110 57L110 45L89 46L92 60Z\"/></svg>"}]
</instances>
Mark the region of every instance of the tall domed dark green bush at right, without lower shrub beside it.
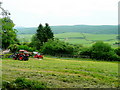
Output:
<instances>
[{"instance_id":1,"label":"tall domed dark green bush at right, without lower shrub beside it","mask_svg":"<svg viewBox=\"0 0 120 90\"><path fill-rule=\"evenodd\" d=\"M92 45L91 57L95 59L103 59L110 61L118 61L120 58L115 54L114 50L107 43L98 41Z\"/></svg>"}]
</instances>

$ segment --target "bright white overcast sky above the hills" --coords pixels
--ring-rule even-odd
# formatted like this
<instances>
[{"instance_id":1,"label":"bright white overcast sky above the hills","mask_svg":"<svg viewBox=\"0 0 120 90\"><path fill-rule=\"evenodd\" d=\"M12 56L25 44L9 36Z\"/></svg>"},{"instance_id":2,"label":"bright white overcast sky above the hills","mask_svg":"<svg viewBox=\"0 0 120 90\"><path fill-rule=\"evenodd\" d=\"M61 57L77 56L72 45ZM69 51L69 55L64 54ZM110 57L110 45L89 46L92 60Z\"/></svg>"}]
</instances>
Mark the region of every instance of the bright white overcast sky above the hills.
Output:
<instances>
[{"instance_id":1,"label":"bright white overcast sky above the hills","mask_svg":"<svg viewBox=\"0 0 120 90\"><path fill-rule=\"evenodd\" d=\"M16 27L117 25L120 0L0 0Z\"/></svg>"}]
</instances>

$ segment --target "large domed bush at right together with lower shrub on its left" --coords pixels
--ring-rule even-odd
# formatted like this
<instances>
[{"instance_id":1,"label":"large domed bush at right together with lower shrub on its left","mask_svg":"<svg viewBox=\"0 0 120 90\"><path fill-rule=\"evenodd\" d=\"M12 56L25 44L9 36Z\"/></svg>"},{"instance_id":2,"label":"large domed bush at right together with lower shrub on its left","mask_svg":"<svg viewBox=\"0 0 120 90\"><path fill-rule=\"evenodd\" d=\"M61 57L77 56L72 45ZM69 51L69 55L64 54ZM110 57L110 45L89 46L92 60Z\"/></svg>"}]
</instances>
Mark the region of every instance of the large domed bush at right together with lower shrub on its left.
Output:
<instances>
[{"instance_id":1,"label":"large domed bush at right together with lower shrub on its left","mask_svg":"<svg viewBox=\"0 0 120 90\"><path fill-rule=\"evenodd\" d=\"M80 55L89 56L96 60L119 61L120 57L116 55L111 46L102 41L97 41L90 48L83 48Z\"/></svg>"}]
</instances>

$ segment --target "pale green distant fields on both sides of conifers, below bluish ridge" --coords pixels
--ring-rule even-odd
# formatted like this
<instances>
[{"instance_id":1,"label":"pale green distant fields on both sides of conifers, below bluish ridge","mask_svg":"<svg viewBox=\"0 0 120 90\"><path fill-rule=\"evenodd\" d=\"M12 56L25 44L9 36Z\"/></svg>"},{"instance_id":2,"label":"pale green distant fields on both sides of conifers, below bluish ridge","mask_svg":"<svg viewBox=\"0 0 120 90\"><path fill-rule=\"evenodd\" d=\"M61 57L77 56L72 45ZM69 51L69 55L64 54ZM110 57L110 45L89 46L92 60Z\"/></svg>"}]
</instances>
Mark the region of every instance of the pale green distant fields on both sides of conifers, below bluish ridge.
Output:
<instances>
[{"instance_id":1,"label":"pale green distant fields on both sides of conifers, below bluish ridge","mask_svg":"<svg viewBox=\"0 0 120 90\"><path fill-rule=\"evenodd\" d=\"M84 46L91 46L95 41L102 40L112 45L117 42L117 34L88 34L88 33L61 33L54 34L55 38L59 38L62 41L69 42L71 44L83 44ZM19 34L18 39L21 42L30 42L32 34Z\"/></svg>"}]
</instances>

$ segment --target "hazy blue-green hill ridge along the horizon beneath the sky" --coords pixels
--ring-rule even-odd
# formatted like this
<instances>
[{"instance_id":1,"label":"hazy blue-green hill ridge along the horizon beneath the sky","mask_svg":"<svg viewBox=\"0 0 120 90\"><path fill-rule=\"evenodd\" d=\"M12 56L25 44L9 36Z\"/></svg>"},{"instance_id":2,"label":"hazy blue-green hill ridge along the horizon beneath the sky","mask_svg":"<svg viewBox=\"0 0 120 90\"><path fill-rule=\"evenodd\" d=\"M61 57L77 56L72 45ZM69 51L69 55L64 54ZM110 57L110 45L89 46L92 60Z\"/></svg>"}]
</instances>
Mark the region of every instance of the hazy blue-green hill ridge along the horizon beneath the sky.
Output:
<instances>
[{"instance_id":1,"label":"hazy blue-green hill ridge along the horizon beneath the sky","mask_svg":"<svg viewBox=\"0 0 120 90\"><path fill-rule=\"evenodd\" d=\"M71 26L50 26L54 34L66 32L79 32L91 34L118 34L117 25L71 25ZM37 27L16 27L18 34L34 34Z\"/></svg>"}]
</instances>

